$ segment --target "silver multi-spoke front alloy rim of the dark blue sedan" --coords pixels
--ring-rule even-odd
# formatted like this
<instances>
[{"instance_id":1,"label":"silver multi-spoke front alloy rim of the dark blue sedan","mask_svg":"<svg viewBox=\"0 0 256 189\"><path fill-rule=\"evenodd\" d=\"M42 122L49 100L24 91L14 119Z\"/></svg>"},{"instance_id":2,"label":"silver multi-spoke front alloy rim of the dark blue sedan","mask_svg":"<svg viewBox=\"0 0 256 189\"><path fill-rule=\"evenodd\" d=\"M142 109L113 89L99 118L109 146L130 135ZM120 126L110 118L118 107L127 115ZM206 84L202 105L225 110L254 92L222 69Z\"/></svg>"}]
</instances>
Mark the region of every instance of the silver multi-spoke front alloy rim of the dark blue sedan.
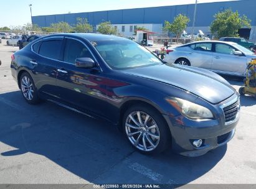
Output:
<instances>
[{"instance_id":1,"label":"silver multi-spoke front alloy rim of the dark blue sedan","mask_svg":"<svg viewBox=\"0 0 256 189\"><path fill-rule=\"evenodd\" d=\"M126 136L137 149L149 152L158 147L160 132L156 121L142 111L128 115L125 122Z\"/></svg>"}]
</instances>

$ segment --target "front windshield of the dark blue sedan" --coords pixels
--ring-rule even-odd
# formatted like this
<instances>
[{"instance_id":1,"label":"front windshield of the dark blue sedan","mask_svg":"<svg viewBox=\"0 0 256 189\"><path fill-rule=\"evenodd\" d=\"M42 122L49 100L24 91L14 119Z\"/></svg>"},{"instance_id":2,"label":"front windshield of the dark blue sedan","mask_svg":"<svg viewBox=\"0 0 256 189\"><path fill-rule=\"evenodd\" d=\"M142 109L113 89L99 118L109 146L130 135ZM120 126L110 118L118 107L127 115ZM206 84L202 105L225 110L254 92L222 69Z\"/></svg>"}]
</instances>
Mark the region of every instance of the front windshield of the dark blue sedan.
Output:
<instances>
[{"instance_id":1,"label":"front windshield of the dark blue sedan","mask_svg":"<svg viewBox=\"0 0 256 189\"><path fill-rule=\"evenodd\" d=\"M131 40L100 40L93 41L92 44L105 62L115 70L163 64L146 48Z\"/></svg>"}]
</instances>

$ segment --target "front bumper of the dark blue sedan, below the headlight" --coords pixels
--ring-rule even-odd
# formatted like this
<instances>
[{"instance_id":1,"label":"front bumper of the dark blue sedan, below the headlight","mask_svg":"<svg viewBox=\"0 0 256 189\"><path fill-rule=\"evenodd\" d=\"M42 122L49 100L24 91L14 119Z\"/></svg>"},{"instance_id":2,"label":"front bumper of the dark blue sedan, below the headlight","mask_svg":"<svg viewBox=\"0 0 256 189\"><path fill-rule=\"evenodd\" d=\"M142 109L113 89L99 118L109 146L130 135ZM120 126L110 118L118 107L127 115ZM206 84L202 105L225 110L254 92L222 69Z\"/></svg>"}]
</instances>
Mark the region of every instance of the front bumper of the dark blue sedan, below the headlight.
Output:
<instances>
[{"instance_id":1,"label":"front bumper of the dark blue sedan, below the headlight","mask_svg":"<svg viewBox=\"0 0 256 189\"><path fill-rule=\"evenodd\" d=\"M189 157L204 155L209 150L227 144L234 137L235 127L240 118L238 112L234 121L225 124L222 120L224 118L196 121L187 119L183 115L163 116L172 134L172 149L178 154ZM193 141L199 139L202 140L202 145L195 147Z\"/></svg>"}]
</instances>

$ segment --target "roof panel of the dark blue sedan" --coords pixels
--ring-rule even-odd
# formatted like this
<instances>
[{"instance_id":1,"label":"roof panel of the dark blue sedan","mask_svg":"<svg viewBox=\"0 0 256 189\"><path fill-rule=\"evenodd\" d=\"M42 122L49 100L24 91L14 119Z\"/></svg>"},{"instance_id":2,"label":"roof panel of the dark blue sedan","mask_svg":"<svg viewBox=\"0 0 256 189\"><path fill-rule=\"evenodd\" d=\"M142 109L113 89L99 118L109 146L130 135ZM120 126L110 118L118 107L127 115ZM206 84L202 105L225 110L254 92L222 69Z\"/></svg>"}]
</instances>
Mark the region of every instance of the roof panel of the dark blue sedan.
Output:
<instances>
[{"instance_id":1,"label":"roof panel of the dark blue sedan","mask_svg":"<svg viewBox=\"0 0 256 189\"><path fill-rule=\"evenodd\" d=\"M47 35L47 37L53 37L53 36L66 36L66 37L82 37L84 39L87 39L89 41L98 41L98 40L129 40L125 39L123 37L118 37L115 35L104 35L104 34L85 34L85 33L65 33L65 34L53 34L53 35Z\"/></svg>"}]
</instances>

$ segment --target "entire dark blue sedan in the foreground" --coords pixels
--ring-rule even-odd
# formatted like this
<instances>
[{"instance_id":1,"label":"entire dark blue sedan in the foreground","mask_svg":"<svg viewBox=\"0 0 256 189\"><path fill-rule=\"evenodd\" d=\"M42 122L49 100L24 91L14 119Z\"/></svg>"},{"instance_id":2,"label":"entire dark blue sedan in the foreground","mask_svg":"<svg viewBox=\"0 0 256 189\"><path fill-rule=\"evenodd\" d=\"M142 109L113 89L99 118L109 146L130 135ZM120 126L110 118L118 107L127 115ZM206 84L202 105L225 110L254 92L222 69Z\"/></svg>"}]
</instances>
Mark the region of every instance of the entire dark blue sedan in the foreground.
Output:
<instances>
[{"instance_id":1,"label":"entire dark blue sedan in the foreground","mask_svg":"<svg viewBox=\"0 0 256 189\"><path fill-rule=\"evenodd\" d=\"M182 155L206 154L229 142L239 121L239 94L224 78L167 65L113 35L41 37L12 55L11 73L27 103L47 99L103 118L144 154L170 145Z\"/></svg>"}]
</instances>

